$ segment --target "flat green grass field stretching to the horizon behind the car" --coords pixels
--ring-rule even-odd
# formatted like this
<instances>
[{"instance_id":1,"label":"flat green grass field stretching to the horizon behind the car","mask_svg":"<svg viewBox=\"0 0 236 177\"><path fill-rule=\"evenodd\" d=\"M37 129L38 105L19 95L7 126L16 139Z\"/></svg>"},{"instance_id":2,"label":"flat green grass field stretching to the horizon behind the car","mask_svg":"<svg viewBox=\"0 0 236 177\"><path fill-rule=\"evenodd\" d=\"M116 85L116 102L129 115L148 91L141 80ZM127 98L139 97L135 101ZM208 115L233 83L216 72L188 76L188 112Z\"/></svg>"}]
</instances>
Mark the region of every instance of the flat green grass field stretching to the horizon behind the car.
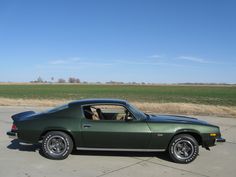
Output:
<instances>
[{"instance_id":1,"label":"flat green grass field stretching to the horizon behind the car","mask_svg":"<svg viewBox=\"0 0 236 177\"><path fill-rule=\"evenodd\" d=\"M0 97L40 100L120 98L131 102L236 106L236 86L1 84Z\"/></svg>"}]
</instances>

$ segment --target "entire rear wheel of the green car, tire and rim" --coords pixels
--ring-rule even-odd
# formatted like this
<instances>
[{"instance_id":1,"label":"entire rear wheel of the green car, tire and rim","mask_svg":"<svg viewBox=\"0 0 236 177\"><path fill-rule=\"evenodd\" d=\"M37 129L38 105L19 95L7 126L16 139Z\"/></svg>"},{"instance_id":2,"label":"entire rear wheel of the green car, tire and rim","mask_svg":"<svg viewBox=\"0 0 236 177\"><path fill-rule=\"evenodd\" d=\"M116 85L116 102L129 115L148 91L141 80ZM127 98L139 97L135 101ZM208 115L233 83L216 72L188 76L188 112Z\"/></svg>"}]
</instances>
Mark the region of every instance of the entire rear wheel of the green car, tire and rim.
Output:
<instances>
[{"instance_id":1,"label":"entire rear wheel of the green car, tire and rim","mask_svg":"<svg viewBox=\"0 0 236 177\"><path fill-rule=\"evenodd\" d=\"M64 132L51 131L43 137L42 152L49 159L63 160L70 155L72 150L73 141Z\"/></svg>"}]
</instances>

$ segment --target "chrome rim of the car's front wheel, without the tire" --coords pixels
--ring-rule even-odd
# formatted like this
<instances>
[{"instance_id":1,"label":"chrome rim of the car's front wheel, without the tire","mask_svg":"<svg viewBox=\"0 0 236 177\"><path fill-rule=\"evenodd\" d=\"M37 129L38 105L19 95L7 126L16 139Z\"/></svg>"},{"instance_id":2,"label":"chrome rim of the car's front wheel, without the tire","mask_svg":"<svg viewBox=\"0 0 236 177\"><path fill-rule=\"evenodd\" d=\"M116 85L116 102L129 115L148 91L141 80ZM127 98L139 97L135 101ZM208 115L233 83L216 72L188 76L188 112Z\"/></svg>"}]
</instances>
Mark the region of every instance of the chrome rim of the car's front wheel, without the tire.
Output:
<instances>
[{"instance_id":1,"label":"chrome rim of the car's front wheel, without the tire","mask_svg":"<svg viewBox=\"0 0 236 177\"><path fill-rule=\"evenodd\" d=\"M193 144L189 140L180 140L174 145L174 153L177 158L186 160L194 153Z\"/></svg>"}]
</instances>

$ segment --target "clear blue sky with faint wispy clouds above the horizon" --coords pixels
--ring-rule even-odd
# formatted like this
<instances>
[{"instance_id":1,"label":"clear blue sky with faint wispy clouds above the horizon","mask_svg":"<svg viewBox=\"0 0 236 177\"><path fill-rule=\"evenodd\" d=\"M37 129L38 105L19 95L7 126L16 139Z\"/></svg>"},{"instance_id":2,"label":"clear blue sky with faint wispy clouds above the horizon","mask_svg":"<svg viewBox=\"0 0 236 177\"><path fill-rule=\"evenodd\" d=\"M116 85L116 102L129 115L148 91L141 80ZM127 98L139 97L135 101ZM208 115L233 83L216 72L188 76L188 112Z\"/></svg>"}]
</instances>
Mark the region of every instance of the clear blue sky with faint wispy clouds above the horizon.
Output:
<instances>
[{"instance_id":1,"label":"clear blue sky with faint wispy clouds above the horizon","mask_svg":"<svg viewBox=\"0 0 236 177\"><path fill-rule=\"evenodd\" d=\"M234 0L1 0L0 81L236 83Z\"/></svg>"}]
</instances>

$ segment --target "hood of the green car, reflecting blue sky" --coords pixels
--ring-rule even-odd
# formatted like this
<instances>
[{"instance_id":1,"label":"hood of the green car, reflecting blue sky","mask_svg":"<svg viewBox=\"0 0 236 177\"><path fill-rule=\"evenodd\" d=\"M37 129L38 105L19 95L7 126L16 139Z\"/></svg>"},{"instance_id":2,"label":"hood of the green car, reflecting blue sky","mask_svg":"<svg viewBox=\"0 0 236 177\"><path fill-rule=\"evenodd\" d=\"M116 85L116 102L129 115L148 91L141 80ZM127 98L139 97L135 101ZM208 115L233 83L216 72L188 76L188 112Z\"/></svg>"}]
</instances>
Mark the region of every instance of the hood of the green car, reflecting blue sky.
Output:
<instances>
[{"instance_id":1,"label":"hood of the green car, reflecting blue sky","mask_svg":"<svg viewBox=\"0 0 236 177\"><path fill-rule=\"evenodd\" d=\"M185 124L201 124L210 125L208 122L197 118L176 116L176 115L149 115L148 122L166 122L166 123L185 123Z\"/></svg>"}]
</instances>

